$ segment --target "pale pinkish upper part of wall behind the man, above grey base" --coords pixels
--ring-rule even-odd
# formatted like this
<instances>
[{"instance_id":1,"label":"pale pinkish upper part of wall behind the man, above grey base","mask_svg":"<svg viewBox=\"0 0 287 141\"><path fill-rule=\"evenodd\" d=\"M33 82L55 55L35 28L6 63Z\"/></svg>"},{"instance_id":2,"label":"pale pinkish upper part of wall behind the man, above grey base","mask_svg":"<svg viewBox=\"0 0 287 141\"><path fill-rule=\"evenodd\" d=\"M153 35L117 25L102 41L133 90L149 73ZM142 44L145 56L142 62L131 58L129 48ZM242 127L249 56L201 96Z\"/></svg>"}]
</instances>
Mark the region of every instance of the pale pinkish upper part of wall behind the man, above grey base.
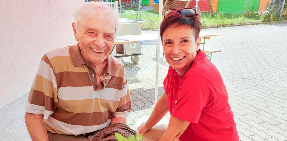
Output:
<instances>
[{"instance_id":1,"label":"pale pinkish upper part of wall behind the man, above grey base","mask_svg":"<svg viewBox=\"0 0 287 141\"><path fill-rule=\"evenodd\" d=\"M84 0L0 0L0 108L30 91L44 53L76 44L73 11Z\"/></svg>"}]
</instances>

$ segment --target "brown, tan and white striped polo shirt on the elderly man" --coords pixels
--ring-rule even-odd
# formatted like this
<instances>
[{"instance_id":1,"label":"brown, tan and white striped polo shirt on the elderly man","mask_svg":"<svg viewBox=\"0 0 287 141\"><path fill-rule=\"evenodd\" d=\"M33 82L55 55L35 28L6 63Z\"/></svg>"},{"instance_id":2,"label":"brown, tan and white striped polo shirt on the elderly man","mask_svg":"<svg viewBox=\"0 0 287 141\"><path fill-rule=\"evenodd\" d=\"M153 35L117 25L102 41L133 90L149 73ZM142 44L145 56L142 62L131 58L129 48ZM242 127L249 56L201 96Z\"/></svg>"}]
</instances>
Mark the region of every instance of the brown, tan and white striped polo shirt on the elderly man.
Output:
<instances>
[{"instance_id":1,"label":"brown, tan and white striped polo shirt on the elderly man","mask_svg":"<svg viewBox=\"0 0 287 141\"><path fill-rule=\"evenodd\" d=\"M131 97L123 63L109 56L97 86L95 70L79 45L44 55L34 79L26 112L44 115L46 130L80 135L108 126L111 118L127 117Z\"/></svg>"}]
</instances>

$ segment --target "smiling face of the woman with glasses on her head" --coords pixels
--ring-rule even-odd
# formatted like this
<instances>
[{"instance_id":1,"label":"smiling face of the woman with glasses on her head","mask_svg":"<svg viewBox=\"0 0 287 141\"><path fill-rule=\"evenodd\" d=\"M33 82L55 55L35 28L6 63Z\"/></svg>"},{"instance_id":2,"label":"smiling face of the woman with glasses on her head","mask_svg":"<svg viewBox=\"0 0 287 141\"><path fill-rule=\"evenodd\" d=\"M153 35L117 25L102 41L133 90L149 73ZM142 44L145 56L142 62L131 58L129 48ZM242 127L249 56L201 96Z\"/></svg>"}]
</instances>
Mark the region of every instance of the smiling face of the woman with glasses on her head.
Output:
<instances>
[{"instance_id":1,"label":"smiling face of the woman with glasses on her head","mask_svg":"<svg viewBox=\"0 0 287 141\"><path fill-rule=\"evenodd\" d=\"M191 27L175 25L169 26L163 32L162 45L166 61L182 76L188 71L197 54L200 38L195 40Z\"/></svg>"}]
</instances>

